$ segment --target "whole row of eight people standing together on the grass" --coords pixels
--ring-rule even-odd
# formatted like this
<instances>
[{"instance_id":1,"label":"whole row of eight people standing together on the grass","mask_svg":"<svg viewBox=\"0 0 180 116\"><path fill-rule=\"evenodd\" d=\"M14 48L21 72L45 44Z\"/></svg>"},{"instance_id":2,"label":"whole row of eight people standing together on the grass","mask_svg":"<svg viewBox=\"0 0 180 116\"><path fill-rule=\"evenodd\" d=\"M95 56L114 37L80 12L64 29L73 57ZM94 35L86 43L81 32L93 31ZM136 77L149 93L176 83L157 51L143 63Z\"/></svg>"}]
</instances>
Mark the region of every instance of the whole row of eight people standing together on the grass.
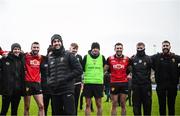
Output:
<instances>
[{"instance_id":1,"label":"whole row of eight people standing together on the grass","mask_svg":"<svg viewBox=\"0 0 180 116\"><path fill-rule=\"evenodd\" d=\"M30 53L22 53L18 43L0 60L2 110L6 115L11 103L11 114L17 115L21 96L24 96L24 115L29 115L30 98L34 96L39 115L47 115L51 99L52 115L77 115L78 99L83 77L83 94L86 98L85 115L91 113L91 98L95 98L97 115L102 115L104 72L110 74L111 115L117 115L118 95L121 114L126 115L128 81L132 79L134 115L151 115L151 69L155 71L160 115L175 115L177 84L180 76L180 56L170 52L170 42L162 42L162 53L148 56L145 44L137 43L137 53L131 58L123 54L123 44L116 43L115 54L107 60L100 53L100 45L93 42L91 50L82 57L78 45L72 43L66 51L60 35L51 37L47 55L39 55L39 43L31 45ZM82 76L84 72L84 75Z\"/></svg>"}]
</instances>

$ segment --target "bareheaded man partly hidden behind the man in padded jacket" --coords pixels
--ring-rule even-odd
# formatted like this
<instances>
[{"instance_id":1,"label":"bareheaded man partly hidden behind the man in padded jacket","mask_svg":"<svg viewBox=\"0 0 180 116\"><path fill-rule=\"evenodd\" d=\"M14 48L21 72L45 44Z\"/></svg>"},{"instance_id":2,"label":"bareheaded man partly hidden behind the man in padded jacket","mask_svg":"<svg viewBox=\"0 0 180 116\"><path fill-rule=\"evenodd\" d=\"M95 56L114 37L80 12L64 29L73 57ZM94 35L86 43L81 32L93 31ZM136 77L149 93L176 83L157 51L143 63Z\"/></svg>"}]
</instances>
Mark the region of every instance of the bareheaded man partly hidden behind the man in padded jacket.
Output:
<instances>
[{"instance_id":1,"label":"bareheaded man partly hidden behind the man in padded jacket","mask_svg":"<svg viewBox=\"0 0 180 116\"><path fill-rule=\"evenodd\" d=\"M78 52L78 44L77 43L71 43L69 51L77 58L79 63L82 65L82 56L77 54ZM78 111L78 102L79 102L79 96L81 92L81 84L82 84L82 75L75 78L75 91L74 91L74 98L75 98L75 114L77 115Z\"/></svg>"}]
</instances>

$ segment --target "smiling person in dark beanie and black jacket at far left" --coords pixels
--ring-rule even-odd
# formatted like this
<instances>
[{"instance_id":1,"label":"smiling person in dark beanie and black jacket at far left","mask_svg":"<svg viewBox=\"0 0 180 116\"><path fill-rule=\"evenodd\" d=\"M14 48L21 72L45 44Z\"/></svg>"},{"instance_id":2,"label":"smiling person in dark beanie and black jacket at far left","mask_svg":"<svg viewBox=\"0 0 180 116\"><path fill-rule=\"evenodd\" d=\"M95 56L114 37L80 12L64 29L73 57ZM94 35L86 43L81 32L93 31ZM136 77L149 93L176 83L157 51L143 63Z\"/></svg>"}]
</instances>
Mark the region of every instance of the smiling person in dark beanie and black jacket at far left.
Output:
<instances>
[{"instance_id":1,"label":"smiling person in dark beanie and black jacket at far left","mask_svg":"<svg viewBox=\"0 0 180 116\"><path fill-rule=\"evenodd\" d=\"M19 102L24 88L24 57L18 43L11 45L7 57L0 60L2 83L1 115L6 115L11 103L11 115L17 115Z\"/></svg>"}]
</instances>

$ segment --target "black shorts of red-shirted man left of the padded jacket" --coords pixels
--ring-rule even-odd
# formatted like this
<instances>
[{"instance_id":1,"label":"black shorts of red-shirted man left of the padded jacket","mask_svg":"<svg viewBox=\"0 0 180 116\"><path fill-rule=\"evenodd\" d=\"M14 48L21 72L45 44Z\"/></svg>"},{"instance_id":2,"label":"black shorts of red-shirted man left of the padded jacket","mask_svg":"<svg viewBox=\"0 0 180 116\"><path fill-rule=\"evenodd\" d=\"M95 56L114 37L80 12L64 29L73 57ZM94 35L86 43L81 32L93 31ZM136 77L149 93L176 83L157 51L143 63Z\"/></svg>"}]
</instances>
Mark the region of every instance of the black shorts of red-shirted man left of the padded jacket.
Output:
<instances>
[{"instance_id":1,"label":"black shorts of red-shirted man left of the padded jacket","mask_svg":"<svg viewBox=\"0 0 180 116\"><path fill-rule=\"evenodd\" d=\"M41 84L37 82L25 82L25 96L42 94Z\"/></svg>"}]
</instances>

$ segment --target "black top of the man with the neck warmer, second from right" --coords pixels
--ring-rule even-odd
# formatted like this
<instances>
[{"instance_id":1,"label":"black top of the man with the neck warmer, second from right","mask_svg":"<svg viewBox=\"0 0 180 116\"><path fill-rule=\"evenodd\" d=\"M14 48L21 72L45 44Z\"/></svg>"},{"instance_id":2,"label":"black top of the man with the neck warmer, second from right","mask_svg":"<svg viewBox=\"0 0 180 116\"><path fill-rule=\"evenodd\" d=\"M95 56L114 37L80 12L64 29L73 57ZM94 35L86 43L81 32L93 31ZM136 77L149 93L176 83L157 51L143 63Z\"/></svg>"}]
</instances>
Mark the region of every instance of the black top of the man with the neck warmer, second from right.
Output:
<instances>
[{"instance_id":1,"label":"black top of the man with the neck warmer, second from right","mask_svg":"<svg viewBox=\"0 0 180 116\"><path fill-rule=\"evenodd\" d=\"M135 55L130 59L132 67L132 84L134 85L149 85L151 84L151 68L152 61L147 55Z\"/></svg>"}]
</instances>

